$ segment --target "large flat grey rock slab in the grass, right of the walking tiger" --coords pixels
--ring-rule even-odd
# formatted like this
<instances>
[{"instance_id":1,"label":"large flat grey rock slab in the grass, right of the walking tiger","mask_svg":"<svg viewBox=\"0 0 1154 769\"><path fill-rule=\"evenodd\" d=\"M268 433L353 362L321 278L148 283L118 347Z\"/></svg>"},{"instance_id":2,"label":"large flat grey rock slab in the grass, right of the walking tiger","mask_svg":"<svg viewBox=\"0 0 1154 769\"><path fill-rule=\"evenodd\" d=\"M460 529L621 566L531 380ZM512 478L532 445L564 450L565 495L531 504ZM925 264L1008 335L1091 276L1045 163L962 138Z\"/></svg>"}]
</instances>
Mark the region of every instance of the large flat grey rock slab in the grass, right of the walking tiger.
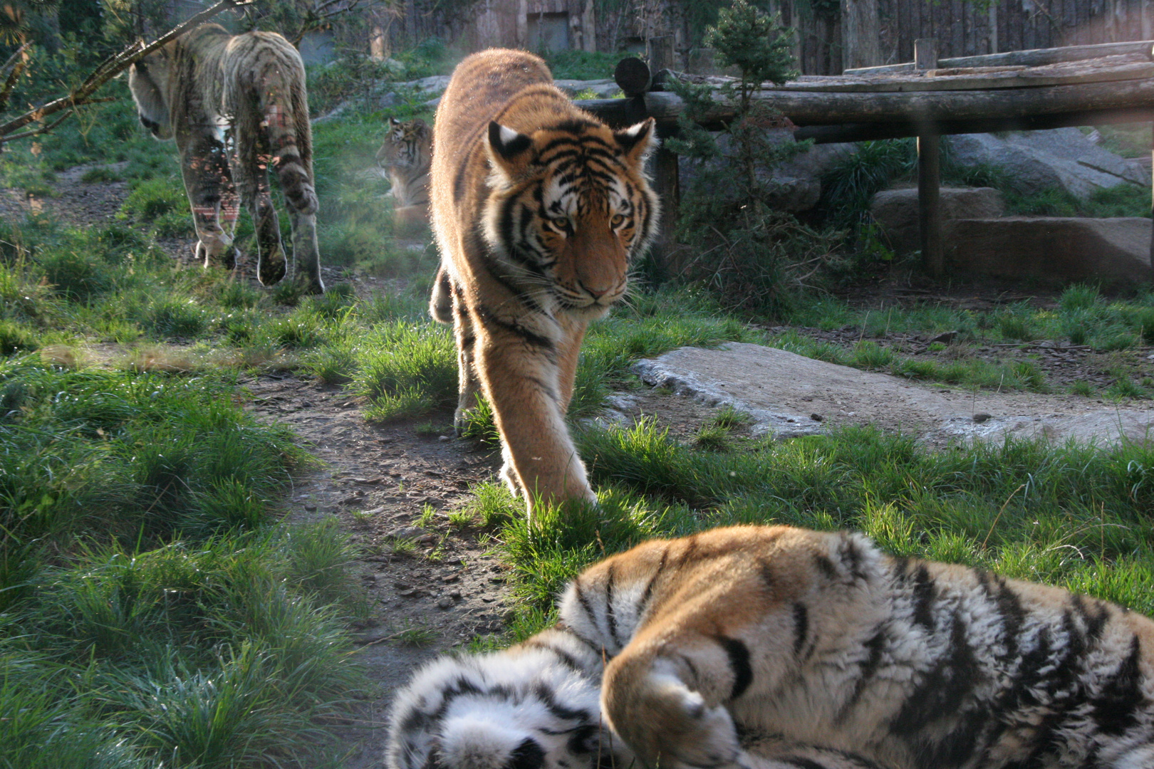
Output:
<instances>
[{"instance_id":1,"label":"large flat grey rock slab in the grass, right of the walking tiger","mask_svg":"<svg viewBox=\"0 0 1154 769\"><path fill-rule=\"evenodd\" d=\"M747 412L755 435L779 438L819 433L831 424L875 424L932 444L1013 437L1106 445L1154 436L1151 407L916 384L760 345L682 347L638 361L634 370L646 384Z\"/></svg>"}]
</instances>

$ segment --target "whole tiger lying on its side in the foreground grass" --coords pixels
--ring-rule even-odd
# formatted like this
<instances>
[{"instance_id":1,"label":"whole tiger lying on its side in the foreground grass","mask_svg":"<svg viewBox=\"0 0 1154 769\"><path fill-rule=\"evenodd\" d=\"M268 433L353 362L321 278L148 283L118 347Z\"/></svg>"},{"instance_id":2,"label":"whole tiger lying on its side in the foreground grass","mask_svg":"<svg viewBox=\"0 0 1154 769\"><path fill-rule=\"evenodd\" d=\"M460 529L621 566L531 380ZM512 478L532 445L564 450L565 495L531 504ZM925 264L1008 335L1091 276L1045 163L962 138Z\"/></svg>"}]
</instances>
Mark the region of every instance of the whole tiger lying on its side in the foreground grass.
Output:
<instances>
[{"instance_id":1,"label":"whole tiger lying on its side in the foreground grass","mask_svg":"<svg viewBox=\"0 0 1154 769\"><path fill-rule=\"evenodd\" d=\"M1149 769L1154 623L859 534L733 527L586 568L560 621L442 657L389 769Z\"/></svg>"}]
</instances>

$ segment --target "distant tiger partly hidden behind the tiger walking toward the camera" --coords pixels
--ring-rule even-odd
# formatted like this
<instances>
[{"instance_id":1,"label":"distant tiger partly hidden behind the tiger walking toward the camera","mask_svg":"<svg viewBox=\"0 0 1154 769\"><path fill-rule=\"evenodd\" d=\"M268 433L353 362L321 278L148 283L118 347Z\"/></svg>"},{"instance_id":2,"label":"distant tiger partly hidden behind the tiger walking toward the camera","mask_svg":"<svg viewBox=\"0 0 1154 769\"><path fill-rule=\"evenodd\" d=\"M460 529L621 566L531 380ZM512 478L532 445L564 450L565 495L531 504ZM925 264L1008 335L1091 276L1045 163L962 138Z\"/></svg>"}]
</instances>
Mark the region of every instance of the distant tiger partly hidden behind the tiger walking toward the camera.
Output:
<instances>
[{"instance_id":1,"label":"distant tiger partly hidden behind the tiger walking toward the camera","mask_svg":"<svg viewBox=\"0 0 1154 769\"><path fill-rule=\"evenodd\" d=\"M376 152L376 165L392 183L392 219L398 229L413 229L429 220L429 165L433 130L417 118L389 118L389 133Z\"/></svg>"}]
</instances>

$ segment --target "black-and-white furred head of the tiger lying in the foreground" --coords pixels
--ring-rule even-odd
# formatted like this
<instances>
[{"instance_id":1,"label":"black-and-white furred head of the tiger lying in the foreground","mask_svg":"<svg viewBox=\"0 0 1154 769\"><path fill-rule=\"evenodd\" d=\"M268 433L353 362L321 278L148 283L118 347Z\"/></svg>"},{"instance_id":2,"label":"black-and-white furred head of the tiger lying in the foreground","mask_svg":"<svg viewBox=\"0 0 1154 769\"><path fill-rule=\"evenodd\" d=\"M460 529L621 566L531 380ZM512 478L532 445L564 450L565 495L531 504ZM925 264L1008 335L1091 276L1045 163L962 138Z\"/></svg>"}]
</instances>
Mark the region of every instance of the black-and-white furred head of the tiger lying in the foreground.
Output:
<instances>
[{"instance_id":1,"label":"black-and-white furred head of the tiger lying in the foreground","mask_svg":"<svg viewBox=\"0 0 1154 769\"><path fill-rule=\"evenodd\" d=\"M571 648L514 647L424 668L394 701L385 767L628 767L632 754L621 740L602 741L598 681L572 668L587 650L556 642Z\"/></svg>"}]
</instances>

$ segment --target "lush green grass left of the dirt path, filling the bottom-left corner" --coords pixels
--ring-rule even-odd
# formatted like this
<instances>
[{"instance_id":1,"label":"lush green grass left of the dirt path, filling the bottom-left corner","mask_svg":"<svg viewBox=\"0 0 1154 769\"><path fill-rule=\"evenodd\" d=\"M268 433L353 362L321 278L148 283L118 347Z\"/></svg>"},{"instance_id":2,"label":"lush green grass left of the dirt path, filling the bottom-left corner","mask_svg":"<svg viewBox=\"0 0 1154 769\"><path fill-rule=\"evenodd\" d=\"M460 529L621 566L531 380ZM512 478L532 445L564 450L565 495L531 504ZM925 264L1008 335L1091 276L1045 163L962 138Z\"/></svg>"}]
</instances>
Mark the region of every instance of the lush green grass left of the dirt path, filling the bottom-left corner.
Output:
<instances>
[{"instance_id":1,"label":"lush green grass left of the dirt path, filling the bottom-left corner","mask_svg":"<svg viewBox=\"0 0 1154 769\"><path fill-rule=\"evenodd\" d=\"M284 429L220 378L24 357L0 361L0 454L6 759L320 757L362 685L344 621L367 610L331 522L267 526L309 461Z\"/></svg>"}]
</instances>

